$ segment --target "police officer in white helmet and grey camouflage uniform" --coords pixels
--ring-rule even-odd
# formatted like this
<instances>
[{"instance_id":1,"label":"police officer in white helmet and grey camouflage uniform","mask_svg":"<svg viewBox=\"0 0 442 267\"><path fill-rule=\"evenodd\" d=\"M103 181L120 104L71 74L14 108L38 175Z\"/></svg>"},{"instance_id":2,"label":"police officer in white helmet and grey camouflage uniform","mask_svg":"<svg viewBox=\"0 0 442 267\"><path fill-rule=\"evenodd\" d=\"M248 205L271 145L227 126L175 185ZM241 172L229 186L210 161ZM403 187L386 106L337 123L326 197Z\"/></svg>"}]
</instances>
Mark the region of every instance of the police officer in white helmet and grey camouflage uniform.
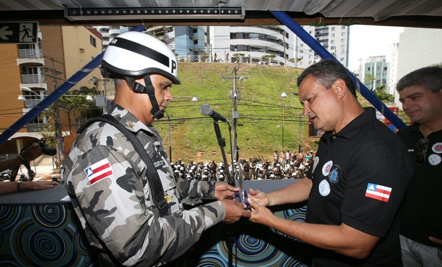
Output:
<instances>
[{"instance_id":1,"label":"police officer in white helmet and grey camouflage uniform","mask_svg":"<svg viewBox=\"0 0 442 267\"><path fill-rule=\"evenodd\" d=\"M109 44L101 63L103 76L114 78L116 86L106 112L148 152L168 213L162 215L154 203L147 167L123 133L104 122L90 124L72 144L61 176L89 242L100 250L100 265L163 265L185 254L214 224L250 217L245 205L228 199L238 188L173 177L163 141L152 126L173 99L172 84L180 83L170 48L148 34L124 32ZM181 198L218 201L185 211Z\"/></svg>"}]
</instances>

